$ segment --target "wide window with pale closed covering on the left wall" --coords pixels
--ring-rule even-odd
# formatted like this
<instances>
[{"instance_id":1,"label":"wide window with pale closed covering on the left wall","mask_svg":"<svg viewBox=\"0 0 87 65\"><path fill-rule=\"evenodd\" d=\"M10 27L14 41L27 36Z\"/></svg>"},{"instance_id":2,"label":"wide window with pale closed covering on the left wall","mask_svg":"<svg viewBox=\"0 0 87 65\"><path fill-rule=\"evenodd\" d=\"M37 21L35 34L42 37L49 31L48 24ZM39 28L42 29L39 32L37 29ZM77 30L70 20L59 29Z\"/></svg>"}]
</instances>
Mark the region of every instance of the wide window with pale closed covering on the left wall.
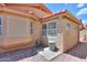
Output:
<instances>
[{"instance_id":1,"label":"wide window with pale closed covering on the left wall","mask_svg":"<svg viewBox=\"0 0 87 65\"><path fill-rule=\"evenodd\" d=\"M8 17L8 20L7 20L8 35L12 35L12 36L29 35L28 22L29 21L26 19Z\"/></svg>"}]
</instances>

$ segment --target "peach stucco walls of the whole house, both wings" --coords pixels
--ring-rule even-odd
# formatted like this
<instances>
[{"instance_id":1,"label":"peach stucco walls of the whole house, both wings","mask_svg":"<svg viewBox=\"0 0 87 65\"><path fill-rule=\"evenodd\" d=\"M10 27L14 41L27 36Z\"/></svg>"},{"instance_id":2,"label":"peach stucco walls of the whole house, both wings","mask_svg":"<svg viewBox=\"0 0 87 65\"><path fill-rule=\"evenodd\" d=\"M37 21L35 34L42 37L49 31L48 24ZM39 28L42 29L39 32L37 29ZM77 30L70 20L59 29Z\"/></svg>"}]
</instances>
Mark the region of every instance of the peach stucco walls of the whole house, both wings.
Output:
<instances>
[{"instance_id":1,"label":"peach stucco walls of the whole house, both wings","mask_svg":"<svg viewBox=\"0 0 87 65\"><path fill-rule=\"evenodd\" d=\"M18 6L12 6L10 8L17 9L17 10L22 10L25 11L30 10L33 11L36 15L42 18L43 15L46 15L47 13L42 12L41 10L37 10L35 8L31 7L18 7ZM1 12L0 15L2 17L3 20L3 34L0 35L0 53L1 52L8 52L17 48L24 48L24 47L32 47L35 45L36 40L41 40L43 43L47 44L48 40L47 36L42 35L42 24L48 23L48 22L56 22L57 23L57 39L56 39L56 46L59 48L61 52L65 52L72 47L74 47L78 40L79 40L79 29L75 30L74 25L78 25L75 22L72 22L68 19L63 18L63 15L55 15L52 17L47 20L45 20L43 23L39 21L36 17L25 17L25 15L19 15L10 12ZM8 35L8 17L11 17L11 34ZM19 29L18 31L19 34L21 32L23 35L14 35L14 30L15 30L15 19L23 19L26 20L25 23L28 25L32 21L34 23L34 34L25 33L25 31L20 30L22 24L24 22L22 21L21 23L19 22ZM66 23L70 23L70 30L66 30ZM22 28L25 28L26 25L23 25ZM24 29L23 29L24 30ZM26 35L25 35L26 34Z\"/></svg>"}]
</instances>

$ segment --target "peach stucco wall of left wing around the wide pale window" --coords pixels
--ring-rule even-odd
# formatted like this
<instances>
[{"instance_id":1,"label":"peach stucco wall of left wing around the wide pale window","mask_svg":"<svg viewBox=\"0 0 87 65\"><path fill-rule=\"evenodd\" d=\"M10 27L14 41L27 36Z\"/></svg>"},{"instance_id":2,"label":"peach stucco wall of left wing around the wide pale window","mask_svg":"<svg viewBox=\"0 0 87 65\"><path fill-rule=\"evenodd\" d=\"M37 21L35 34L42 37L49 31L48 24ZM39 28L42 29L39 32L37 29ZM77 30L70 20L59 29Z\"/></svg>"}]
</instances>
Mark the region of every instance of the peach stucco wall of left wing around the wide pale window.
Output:
<instances>
[{"instance_id":1,"label":"peach stucco wall of left wing around the wide pale window","mask_svg":"<svg viewBox=\"0 0 87 65\"><path fill-rule=\"evenodd\" d=\"M23 48L23 47L32 47L35 45L35 41L40 39L40 26L41 26L41 23L37 20L29 17L22 17L22 15L12 14L12 13L6 13L6 12L0 12L0 15L3 17L3 35L0 36L0 52L7 52L7 51ZM29 35L23 35L23 36L8 35L8 29L7 29L8 17L14 17L12 19L11 26L14 25L13 21L15 18L24 19L26 20L28 23L32 21L34 23L34 34L29 33ZM19 26L20 26L20 23L19 23ZM14 28L11 28L11 29L14 29ZM24 31L22 32L24 33ZM11 33L13 34L14 32L11 32ZM21 34L21 32L19 32L19 34Z\"/></svg>"}]
</instances>

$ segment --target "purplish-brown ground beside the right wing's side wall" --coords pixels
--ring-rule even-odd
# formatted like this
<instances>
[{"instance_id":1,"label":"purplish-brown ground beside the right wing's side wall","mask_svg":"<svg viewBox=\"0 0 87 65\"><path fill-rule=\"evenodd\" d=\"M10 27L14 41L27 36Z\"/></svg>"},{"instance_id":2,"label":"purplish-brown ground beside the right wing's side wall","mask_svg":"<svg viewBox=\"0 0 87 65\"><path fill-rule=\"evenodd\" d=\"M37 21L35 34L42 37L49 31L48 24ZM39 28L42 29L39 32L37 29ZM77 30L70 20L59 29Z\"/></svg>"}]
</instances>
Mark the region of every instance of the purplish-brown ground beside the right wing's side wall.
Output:
<instances>
[{"instance_id":1,"label":"purplish-brown ground beside the right wing's side wall","mask_svg":"<svg viewBox=\"0 0 87 65\"><path fill-rule=\"evenodd\" d=\"M78 58L87 58L87 42L80 42L77 46L73 47L70 51L66 52Z\"/></svg>"}]
</instances>

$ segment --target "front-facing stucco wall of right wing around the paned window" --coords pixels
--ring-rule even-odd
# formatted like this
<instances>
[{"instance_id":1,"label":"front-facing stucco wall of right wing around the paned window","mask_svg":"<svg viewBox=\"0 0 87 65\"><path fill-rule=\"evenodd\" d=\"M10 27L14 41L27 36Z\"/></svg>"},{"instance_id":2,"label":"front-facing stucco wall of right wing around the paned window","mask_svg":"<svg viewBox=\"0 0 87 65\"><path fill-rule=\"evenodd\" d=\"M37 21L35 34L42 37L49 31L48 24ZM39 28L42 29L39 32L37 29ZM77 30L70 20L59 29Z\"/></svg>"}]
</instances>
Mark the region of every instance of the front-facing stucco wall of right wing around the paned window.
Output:
<instances>
[{"instance_id":1,"label":"front-facing stucco wall of right wing around the paned window","mask_svg":"<svg viewBox=\"0 0 87 65\"><path fill-rule=\"evenodd\" d=\"M51 19L47 21L44 21L42 24L47 24L50 22L56 22L56 30L57 30L57 35L56 35L56 47L58 51L63 51L63 32L62 32L62 19L59 17L55 19ZM48 45L48 37L46 35L42 35L42 42L46 45Z\"/></svg>"}]
</instances>

